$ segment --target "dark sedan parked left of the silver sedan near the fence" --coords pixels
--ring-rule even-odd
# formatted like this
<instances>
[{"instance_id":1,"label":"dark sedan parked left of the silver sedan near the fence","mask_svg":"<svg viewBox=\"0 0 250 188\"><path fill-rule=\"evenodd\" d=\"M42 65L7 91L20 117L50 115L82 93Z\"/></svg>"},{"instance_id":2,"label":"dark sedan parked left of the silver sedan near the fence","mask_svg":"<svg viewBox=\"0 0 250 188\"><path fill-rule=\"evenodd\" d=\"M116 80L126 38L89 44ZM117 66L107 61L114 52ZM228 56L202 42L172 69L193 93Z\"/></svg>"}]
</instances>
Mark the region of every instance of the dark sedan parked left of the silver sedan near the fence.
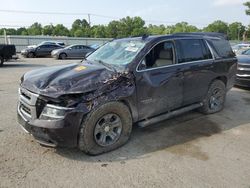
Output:
<instances>
[{"instance_id":1,"label":"dark sedan parked left of the silver sedan near the fence","mask_svg":"<svg viewBox=\"0 0 250 188\"><path fill-rule=\"evenodd\" d=\"M26 48L21 51L21 55L28 58L46 57L50 56L55 49L62 49L63 47L57 44L42 44L36 47Z\"/></svg>"}]
</instances>

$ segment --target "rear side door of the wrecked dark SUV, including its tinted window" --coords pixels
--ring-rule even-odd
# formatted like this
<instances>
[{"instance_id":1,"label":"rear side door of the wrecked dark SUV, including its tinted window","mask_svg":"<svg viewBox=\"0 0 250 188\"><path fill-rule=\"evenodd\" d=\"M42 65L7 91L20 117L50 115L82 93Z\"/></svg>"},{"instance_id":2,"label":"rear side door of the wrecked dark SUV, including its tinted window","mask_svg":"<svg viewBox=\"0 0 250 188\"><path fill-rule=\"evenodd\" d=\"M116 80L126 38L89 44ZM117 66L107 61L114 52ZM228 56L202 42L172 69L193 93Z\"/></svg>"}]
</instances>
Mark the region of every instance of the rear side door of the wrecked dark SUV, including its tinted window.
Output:
<instances>
[{"instance_id":1,"label":"rear side door of the wrecked dark SUV, including its tinted window","mask_svg":"<svg viewBox=\"0 0 250 188\"><path fill-rule=\"evenodd\" d=\"M214 77L214 59L204 39L176 40L178 64L183 70L183 105L201 102Z\"/></svg>"}]
</instances>

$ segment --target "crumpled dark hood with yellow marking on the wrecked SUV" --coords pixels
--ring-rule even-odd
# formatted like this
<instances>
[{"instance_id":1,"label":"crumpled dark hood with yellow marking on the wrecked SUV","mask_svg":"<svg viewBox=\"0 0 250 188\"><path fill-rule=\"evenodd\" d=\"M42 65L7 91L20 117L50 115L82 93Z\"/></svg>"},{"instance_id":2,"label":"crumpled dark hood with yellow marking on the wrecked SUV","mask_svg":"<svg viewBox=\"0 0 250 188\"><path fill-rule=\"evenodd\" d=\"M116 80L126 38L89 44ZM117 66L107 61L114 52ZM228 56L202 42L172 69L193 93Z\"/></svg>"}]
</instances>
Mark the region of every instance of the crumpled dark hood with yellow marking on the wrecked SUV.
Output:
<instances>
[{"instance_id":1,"label":"crumpled dark hood with yellow marking on the wrecked SUV","mask_svg":"<svg viewBox=\"0 0 250 188\"><path fill-rule=\"evenodd\" d=\"M31 92L57 98L64 94L94 91L115 74L102 65L74 63L30 71L23 76L21 86Z\"/></svg>"}]
</instances>

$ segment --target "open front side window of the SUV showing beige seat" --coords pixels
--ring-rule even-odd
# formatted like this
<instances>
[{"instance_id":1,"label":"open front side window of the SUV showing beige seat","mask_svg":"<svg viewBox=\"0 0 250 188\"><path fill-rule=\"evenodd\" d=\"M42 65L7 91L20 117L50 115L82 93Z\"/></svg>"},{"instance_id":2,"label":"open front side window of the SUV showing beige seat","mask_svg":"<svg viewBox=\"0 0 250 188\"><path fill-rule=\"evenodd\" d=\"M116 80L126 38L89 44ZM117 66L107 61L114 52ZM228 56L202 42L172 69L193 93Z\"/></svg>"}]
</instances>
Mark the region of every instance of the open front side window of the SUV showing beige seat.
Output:
<instances>
[{"instance_id":1,"label":"open front side window of the SUV showing beige seat","mask_svg":"<svg viewBox=\"0 0 250 188\"><path fill-rule=\"evenodd\" d=\"M171 41L157 44L144 57L139 65L139 70L165 67L175 63L174 44Z\"/></svg>"}]
</instances>

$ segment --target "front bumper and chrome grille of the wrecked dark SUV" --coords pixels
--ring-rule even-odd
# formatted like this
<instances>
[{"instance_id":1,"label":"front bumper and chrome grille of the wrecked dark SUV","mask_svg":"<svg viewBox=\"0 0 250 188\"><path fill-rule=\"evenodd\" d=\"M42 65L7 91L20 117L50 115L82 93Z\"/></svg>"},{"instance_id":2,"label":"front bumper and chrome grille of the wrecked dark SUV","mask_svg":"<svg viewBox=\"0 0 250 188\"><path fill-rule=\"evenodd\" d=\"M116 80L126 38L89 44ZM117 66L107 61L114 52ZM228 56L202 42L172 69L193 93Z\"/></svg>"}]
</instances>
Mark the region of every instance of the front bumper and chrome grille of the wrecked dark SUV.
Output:
<instances>
[{"instance_id":1,"label":"front bumper and chrome grille of the wrecked dark SUV","mask_svg":"<svg viewBox=\"0 0 250 188\"><path fill-rule=\"evenodd\" d=\"M25 89L19 91L18 123L42 145L76 147L83 113L71 109L60 118L41 119L38 97Z\"/></svg>"}]
</instances>

